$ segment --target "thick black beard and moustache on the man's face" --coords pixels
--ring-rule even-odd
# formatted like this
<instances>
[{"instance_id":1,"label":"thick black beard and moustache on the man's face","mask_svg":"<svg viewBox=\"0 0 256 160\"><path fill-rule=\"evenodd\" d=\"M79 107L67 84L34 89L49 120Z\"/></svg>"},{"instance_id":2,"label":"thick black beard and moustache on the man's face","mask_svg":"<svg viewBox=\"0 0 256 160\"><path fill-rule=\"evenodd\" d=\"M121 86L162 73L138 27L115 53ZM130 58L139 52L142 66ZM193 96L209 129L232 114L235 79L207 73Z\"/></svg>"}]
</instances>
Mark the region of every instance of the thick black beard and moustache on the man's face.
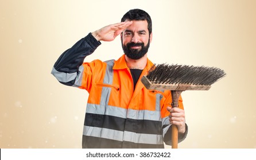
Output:
<instances>
[{"instance_id":1,"label":"thick black beard and moustache on the man's face","mask_svg":"<svg viewBox=\"0 0 256 160\"><path fill-rule=\"evenodd\" d=\"M141 46L141 49L131 49L131 47L134 47L134 46ZM141 43L130 42L130 43L127 43L127 45L123 45L123 41L122 41L122 47L123 47L123 52L125 53L125 55L127 55L127 57L137 60L142 58L146 53L148 53L149 42L148 42L148 45L145 46L143 42Z\"/></svg>"}]
</instances>

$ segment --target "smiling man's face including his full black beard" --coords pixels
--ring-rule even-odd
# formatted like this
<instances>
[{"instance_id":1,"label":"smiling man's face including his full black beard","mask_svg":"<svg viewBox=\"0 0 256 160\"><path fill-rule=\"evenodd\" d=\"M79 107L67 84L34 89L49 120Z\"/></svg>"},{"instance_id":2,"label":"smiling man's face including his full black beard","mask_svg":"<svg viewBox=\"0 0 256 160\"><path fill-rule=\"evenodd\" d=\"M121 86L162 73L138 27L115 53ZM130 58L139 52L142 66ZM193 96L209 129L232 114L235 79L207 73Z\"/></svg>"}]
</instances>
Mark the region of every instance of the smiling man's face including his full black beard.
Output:
<instances>
[{"instance_id":1,"label":"smiling man's face including his full black beard","mask_svg":"<svg viewBox=\"0 0 256 160\"><path fill-rule=\"evenodd\" d=\"M121 41L123 51L127 57L139 59L148 53L151 39L152 34L149 35L148 22L146 20L133 21L133 23L122 32Z\"/></svg>"}]
</instances>

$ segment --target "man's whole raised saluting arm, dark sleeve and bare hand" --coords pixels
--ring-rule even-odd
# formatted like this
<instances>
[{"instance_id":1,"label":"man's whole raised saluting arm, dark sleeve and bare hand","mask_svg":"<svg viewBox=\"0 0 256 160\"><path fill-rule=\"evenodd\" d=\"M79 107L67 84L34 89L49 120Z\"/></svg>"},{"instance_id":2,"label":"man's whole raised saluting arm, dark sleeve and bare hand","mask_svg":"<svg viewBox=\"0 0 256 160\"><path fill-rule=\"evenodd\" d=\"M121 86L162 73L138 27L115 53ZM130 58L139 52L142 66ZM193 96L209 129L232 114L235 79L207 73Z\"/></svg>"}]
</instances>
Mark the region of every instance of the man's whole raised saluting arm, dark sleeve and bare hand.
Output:
<instances>
[{"instance_id":1,"label":"man's whole raised saluting arm, dark sleeve and bare hand","mask_svg":"<svg viewBox=\"0 0 256 160\"><path fill-rule=\"evenodd\" d=\"M133 22L128 21L108 25L80 39L60 55L53 66L52 74L64 85L79 86L84 58L95 51L101 44L100 41L113 41L131 23Z\"/></svg>"}]
</instances>

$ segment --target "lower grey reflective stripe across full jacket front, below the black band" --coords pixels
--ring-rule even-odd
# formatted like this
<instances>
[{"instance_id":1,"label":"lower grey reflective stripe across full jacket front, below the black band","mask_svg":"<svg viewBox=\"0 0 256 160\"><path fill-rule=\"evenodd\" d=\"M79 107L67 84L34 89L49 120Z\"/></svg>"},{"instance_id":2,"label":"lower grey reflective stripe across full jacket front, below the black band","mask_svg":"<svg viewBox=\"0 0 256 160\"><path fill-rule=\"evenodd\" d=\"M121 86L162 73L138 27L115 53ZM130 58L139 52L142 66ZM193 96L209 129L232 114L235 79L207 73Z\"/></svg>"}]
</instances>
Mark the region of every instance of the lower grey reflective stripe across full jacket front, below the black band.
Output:
<instances>
[{"instance_id":1,"label":"lower grey reflective stripe across full jacket front, below the black band","mask_svg":"<svg viewBox=\"0 0 256 160\"><path fill-rule=\"evenodd\" d=\"M145 144L163 144L162 135L156 134L140 134L133 133L130 131L117 131L99 127L84 126L83 135L113 139L116 141L127 141L134 143L145 143Z\"/></svg>"}]
</instances>

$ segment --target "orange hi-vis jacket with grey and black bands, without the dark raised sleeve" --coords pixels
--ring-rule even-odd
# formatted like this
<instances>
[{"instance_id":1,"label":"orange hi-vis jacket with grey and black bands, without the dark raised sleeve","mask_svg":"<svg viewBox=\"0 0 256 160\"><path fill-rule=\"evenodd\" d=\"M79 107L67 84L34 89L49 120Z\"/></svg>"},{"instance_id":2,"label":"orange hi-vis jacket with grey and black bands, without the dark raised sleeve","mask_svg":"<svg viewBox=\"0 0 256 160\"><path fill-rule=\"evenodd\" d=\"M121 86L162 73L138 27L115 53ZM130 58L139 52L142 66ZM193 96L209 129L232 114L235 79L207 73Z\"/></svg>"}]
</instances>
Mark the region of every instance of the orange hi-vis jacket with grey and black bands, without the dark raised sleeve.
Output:
<instances>
[{"instance_id":1,"label":"orange hi-vis jacket with grey and black bands, without the dark raised sleeve","mask_svg":"<svg viewBox=\"0 0 256 160\"><path fill-rule=\"evenodd\" d=\"M148 59L141 77L152 65ZM83 148L164 148L164 139L171 136L165 133L170 126L166 107L172 96L170 91L146 89L141 77L133 90L125 55L79 67L74 86L89 93ZM181 97L179 107L183 109Z\"/></svg>"}]
</instances>

